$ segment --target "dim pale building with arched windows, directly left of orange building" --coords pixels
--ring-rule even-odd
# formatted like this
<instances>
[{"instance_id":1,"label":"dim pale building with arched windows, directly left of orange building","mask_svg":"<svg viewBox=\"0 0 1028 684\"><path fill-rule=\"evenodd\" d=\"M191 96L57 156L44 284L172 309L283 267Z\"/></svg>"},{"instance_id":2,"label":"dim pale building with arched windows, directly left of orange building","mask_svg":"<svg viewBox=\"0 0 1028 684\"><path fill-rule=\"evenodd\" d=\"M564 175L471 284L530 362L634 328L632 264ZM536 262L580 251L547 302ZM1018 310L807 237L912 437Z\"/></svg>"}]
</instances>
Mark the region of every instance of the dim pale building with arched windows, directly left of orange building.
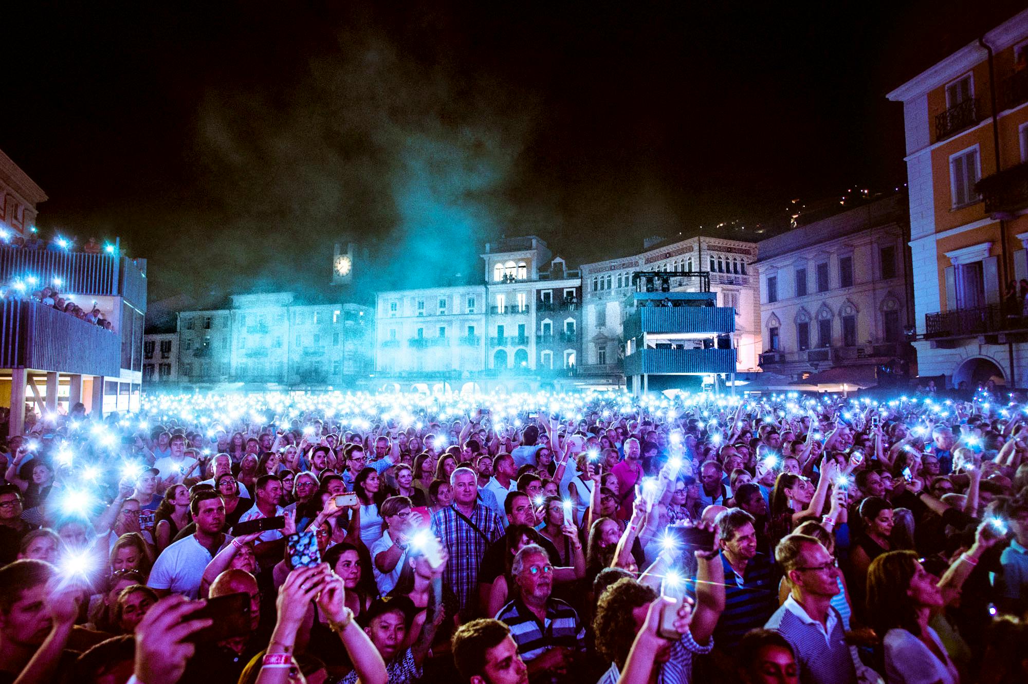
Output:
<instances>
[{"instance_id":1,"label":"dim pale building with arched windows, directly left of orange building","mask_svg":"<svg viewBox=\"0 0 1028 684\"><path fill-rule=\"evenodd\" d=\"M762 240L761 368L801 380L845 367L870 381L909 363L906 235L894 195Z\"/></svg>"}]
</instances>

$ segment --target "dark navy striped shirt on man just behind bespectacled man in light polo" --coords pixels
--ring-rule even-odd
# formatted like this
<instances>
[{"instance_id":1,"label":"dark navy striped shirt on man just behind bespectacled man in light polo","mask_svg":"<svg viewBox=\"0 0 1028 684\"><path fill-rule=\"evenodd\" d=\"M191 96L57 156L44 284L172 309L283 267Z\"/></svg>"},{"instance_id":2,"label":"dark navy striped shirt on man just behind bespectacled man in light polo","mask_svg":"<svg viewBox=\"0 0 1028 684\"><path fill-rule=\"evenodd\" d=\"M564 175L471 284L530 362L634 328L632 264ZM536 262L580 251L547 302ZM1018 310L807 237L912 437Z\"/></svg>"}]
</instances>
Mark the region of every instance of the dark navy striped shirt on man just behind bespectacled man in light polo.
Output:
<instances>
[{"instance_id":1,"label":"dark navy striped shirt on man just behind bespectacled man in light polo","mask_svg":"<svg viewBox=\"0 0 1028 684\"><path fill-rule=\"evenodd\" d=\"M778 609L777 573L766 554L749 559L741 582L724 554L721 562L725 568L725 610L718 619L713 636L719 647L733 649L744 634L764 626Z\"/></svg>"}]
</instances>

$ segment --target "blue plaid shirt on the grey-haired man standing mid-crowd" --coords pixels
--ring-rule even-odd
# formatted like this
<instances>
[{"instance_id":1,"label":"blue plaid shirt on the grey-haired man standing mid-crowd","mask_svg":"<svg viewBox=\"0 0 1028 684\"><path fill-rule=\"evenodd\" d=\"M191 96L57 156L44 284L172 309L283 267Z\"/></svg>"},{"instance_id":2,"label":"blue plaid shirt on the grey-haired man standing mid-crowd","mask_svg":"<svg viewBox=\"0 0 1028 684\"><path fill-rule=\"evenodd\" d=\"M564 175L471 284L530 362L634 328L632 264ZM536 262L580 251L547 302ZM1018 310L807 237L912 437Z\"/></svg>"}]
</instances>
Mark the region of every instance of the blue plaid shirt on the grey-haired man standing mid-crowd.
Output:
<instances>
[{"instance_id":1,"label":"blue plaid shirt on the grey-haired man standing mid-crowd","mask_svg":"<svg viewBox=\"0 0 1028 684\"><path fill-rule=\"evenodd\" d=\"M446 546L449 560L443 570L445 582L456 595L461 604L461 616L468 617L475 608L478 591L478 568L485 556L485 549L504 533L500 516L486 505L475 502L468 516L482 532L462 520L455 504L432 514L432 533ZM482 537L485 535L485 538Z\"/></svg>"}]
</instances>

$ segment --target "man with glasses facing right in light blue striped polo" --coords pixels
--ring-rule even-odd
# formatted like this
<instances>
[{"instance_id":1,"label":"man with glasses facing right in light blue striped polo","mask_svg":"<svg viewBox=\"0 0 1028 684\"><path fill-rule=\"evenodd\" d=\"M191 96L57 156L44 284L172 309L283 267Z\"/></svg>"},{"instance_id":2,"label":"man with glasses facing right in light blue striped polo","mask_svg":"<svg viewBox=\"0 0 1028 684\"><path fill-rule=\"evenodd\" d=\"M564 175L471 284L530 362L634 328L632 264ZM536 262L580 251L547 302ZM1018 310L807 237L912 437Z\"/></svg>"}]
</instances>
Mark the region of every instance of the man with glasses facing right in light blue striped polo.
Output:
<instances>
[{"instance_id":1,"label":"man with glasses facing right in light blue striped polo","mask_svg":"<svg viewBox=\"0 0 1028 684\"><path fill-rule=\"evenodd\" d=\"M792 592L765 626L792 645L801 682L855 683L842 616L832 606L832 598L839 593L835 559L817 539L805 534L782 538L774 556Z\"/></svg>"}]
</instances>

